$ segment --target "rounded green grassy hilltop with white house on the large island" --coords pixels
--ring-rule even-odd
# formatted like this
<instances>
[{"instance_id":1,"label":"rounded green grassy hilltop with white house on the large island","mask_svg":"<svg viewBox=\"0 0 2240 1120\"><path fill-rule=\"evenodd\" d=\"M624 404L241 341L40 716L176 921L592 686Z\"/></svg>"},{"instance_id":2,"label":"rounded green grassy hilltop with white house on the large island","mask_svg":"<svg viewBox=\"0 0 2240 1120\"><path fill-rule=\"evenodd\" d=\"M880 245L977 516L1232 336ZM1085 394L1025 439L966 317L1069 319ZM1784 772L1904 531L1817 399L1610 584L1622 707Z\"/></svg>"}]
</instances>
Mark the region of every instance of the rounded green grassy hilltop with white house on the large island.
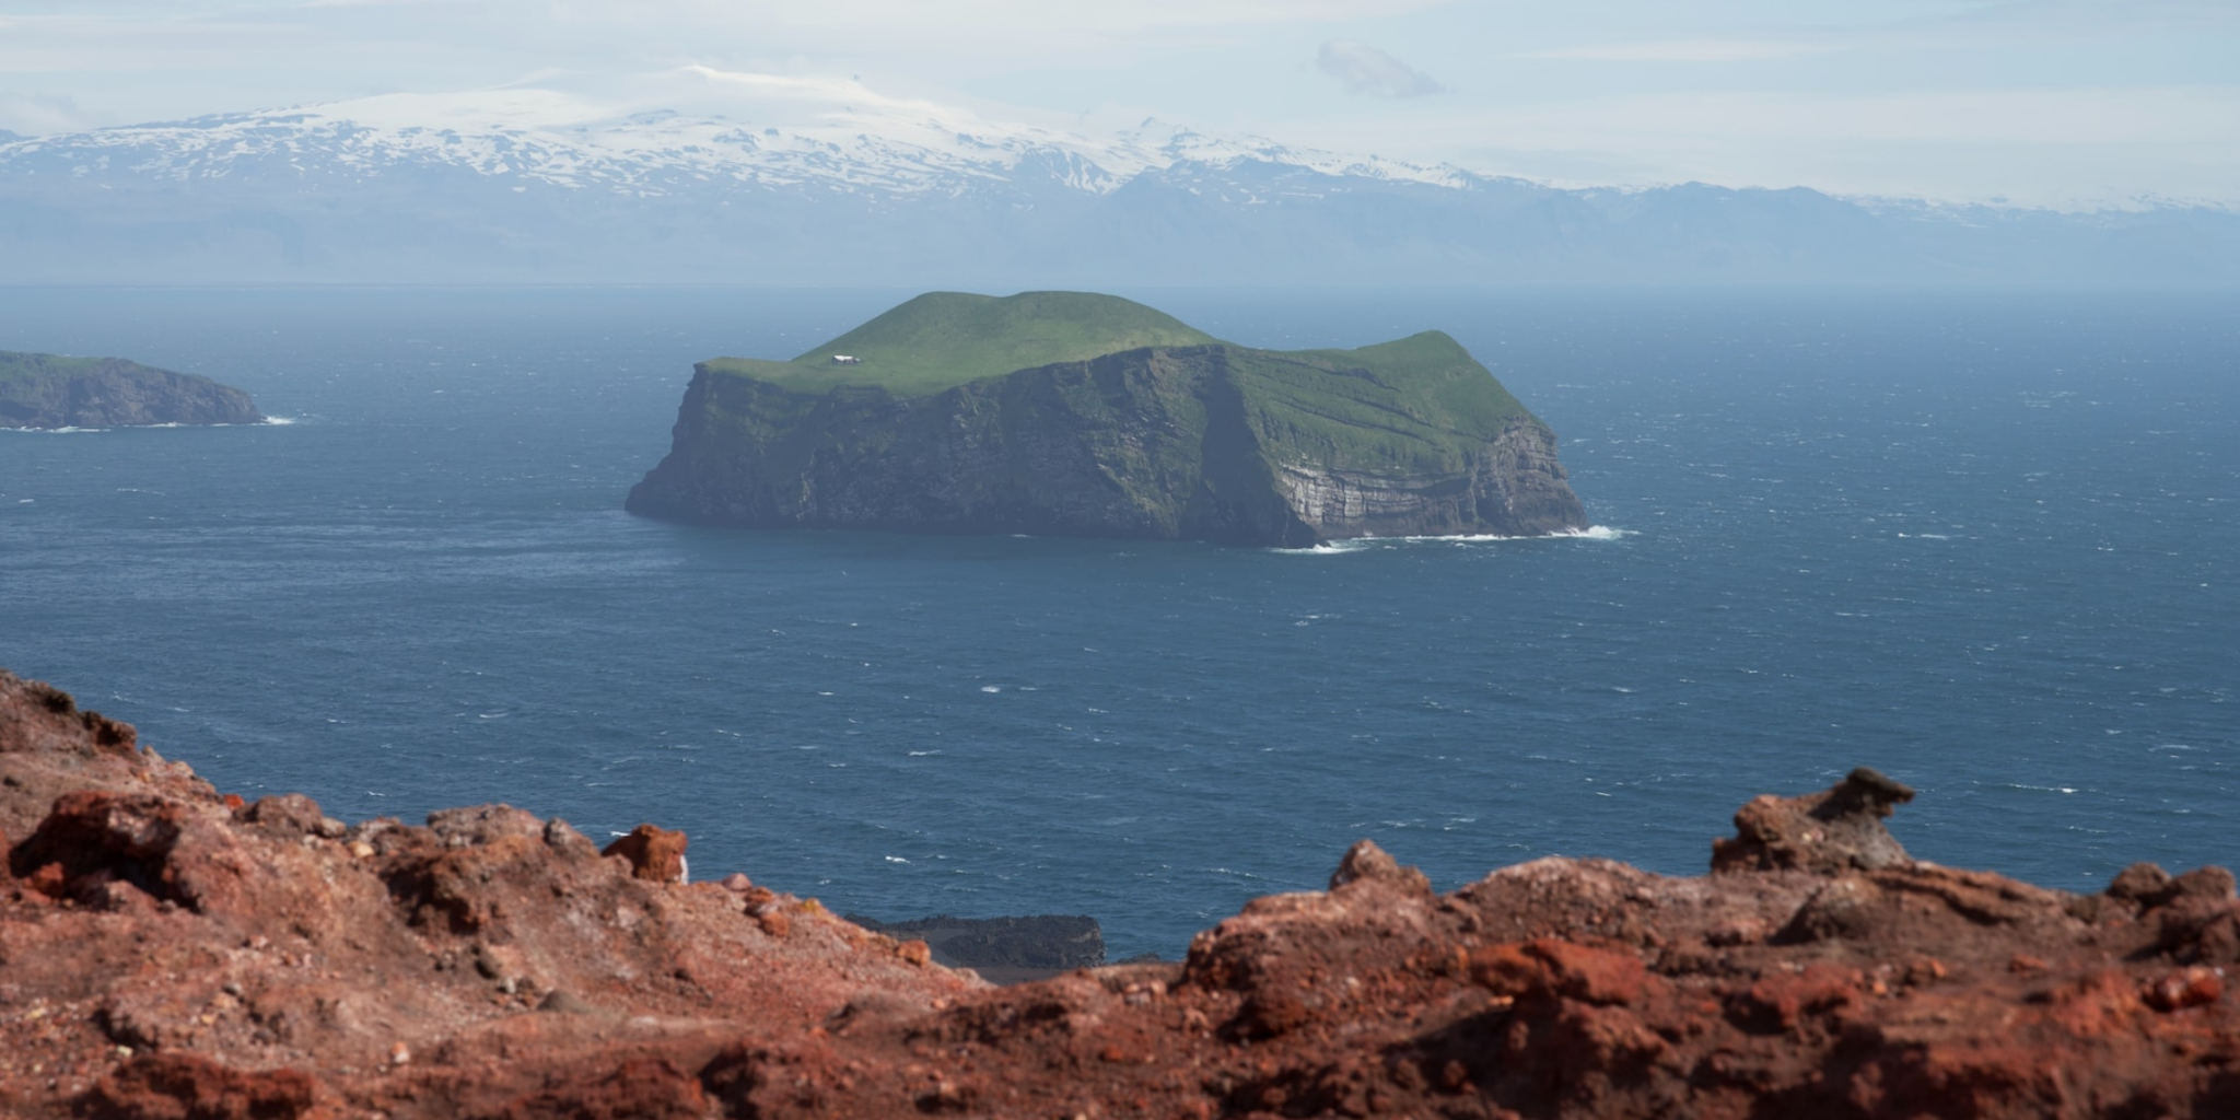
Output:
<instances>
[{"instance_id":1,"label":"rounded green grassy hilltop with white house on the large island","mask_svg":"<svg viewBox=\"0 0 2240 1120\"><path fill-rule=\"evenodd\" d=\"M715 358L706 365L795 392L878 385L896 396L930 396L1035 365L1212 340L1214 336L1174 316L1118 296L1021 291L999 298L930 291L793 361ZM833 365L833 354L862 363Z\"/></svg>"}]
</instances>

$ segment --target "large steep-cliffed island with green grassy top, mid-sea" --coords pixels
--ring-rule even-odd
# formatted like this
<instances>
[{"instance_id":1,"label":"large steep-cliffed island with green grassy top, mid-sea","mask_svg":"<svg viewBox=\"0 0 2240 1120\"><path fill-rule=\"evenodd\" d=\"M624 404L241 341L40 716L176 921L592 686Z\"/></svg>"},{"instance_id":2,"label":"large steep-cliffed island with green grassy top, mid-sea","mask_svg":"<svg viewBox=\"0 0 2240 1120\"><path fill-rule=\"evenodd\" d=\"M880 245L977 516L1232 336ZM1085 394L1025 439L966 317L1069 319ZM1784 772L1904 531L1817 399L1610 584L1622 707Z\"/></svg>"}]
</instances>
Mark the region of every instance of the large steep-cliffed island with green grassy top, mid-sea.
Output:
<instances>
[{"instance_id":1,"label":"large steep-cliffed island with green grassy top, mid-sea","mask_svg":"<svg viewBox=\"0 0 2240 1120\"><path fill-rule=\"evenodd\" d=\"M1440 332L1223 343L1118 296L936 291L699 363L647 517L1310 547L1586 529L1555 432Z\"/></svg>"}]
</instances>

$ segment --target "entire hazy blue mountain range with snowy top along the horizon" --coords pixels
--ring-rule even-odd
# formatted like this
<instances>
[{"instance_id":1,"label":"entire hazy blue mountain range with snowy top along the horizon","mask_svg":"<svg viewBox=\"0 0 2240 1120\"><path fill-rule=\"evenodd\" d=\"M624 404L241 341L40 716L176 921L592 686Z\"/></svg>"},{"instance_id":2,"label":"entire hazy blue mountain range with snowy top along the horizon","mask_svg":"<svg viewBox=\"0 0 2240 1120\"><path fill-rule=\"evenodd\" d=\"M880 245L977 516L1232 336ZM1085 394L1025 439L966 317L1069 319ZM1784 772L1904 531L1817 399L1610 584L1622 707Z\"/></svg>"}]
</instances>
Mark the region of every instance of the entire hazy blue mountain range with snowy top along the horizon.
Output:
<instances>
[{"instance_id":1,"label":"entire hazy blue mountain range with snowy top along the horizon","mask_svg":"<svg viewBox=\"0 0 2240 1120\"><path fill-rule=\"evenodd\" d=\"M2240 213L1568 190L927 103L551 90L0 132L0 284L2240 284Z\"/></svg>"}]
</instances>

